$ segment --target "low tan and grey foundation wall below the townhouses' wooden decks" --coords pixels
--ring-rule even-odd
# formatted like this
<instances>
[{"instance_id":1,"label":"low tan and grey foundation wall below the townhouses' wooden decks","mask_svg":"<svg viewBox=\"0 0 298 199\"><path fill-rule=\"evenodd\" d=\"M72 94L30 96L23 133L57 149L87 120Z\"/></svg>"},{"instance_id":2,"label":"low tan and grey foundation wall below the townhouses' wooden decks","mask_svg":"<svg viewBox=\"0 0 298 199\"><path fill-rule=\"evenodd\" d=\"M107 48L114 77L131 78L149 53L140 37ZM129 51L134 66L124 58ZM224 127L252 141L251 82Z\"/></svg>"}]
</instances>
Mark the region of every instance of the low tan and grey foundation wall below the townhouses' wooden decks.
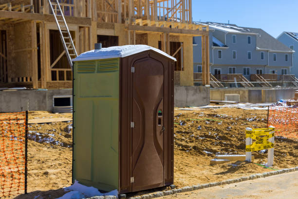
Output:
<instances>
[{"instance_id":1,"label":"low tan and grey foundation wall below the townhouses' wooden decks","mask_svg":"<svg viewBox=\"0 0 298 199\"><path fill-rule=\"evenodd\" d=\"M296 87L286 88L221 88L210 89L211 100L224 100L224 94L238 94L240 102L271 103L294 98Z\"/></svg>"}]
</instances>

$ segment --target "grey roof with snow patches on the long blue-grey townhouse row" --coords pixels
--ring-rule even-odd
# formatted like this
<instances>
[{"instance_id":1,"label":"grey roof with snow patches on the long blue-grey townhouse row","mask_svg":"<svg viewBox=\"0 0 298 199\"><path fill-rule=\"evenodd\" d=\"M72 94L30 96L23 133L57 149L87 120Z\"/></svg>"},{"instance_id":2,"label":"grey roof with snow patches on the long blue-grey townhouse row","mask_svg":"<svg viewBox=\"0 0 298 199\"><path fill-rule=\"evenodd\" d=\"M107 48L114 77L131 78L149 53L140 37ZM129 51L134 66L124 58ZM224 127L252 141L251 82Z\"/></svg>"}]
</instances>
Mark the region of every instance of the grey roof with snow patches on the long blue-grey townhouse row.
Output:
<instances>
[{"instance_id":1,"label":"grey roof with snow patches on the long blue-grey townhouse row","mask_svg":"<svg viewBox=\"0 0 298 199\"><path fill-rule=\"evenodd\" d=\"M275 39L261 28L240 27L236 24L216 23L216 22L197 22L209 25L210 28L221 30L228 33L255 34L257 35L257 49L266 49L273 51L294 52L292 49ZM297 34L298 35L298 34Z\"/></svg>"}]
</instances>

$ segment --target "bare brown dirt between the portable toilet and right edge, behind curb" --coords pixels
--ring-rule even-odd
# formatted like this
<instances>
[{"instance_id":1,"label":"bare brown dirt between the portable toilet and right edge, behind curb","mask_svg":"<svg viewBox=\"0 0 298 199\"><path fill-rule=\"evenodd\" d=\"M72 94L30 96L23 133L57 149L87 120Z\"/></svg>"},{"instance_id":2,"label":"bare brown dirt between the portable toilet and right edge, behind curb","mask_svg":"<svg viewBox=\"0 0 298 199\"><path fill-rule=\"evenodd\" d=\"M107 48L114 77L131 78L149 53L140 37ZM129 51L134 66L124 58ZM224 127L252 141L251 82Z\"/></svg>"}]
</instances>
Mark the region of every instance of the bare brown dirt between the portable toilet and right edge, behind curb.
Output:
<instances>
[{"instance_id":1,"label":"bare brown dirt between the portable toilet and right edge, behind curb","mask_svg":"<svg viewBox=\"0 0 298 199\"><path fill-rule=\"evenodd\" d=\"M245 154L245 128L266 127L266 110L175 109L174 116L174 183L179 187L270 170L245 162L209 164L215 155ZM273 168L297 166L297 149L297 141L276 137ZM267 162L267 150L253 152L253 155L255 163Z\"/></svg>"}]
</instances>

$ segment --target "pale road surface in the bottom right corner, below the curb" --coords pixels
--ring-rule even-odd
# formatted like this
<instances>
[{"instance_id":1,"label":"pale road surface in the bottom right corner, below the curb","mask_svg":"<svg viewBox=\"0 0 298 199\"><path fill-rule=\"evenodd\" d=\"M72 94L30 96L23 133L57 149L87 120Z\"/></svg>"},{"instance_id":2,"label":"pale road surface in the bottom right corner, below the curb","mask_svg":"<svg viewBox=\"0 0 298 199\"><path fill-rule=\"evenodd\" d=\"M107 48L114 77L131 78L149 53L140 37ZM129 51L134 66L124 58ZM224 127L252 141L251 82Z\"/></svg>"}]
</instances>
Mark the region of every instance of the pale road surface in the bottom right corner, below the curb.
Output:
<instances>
[{"instance_id":1,"label":"pale road surface in the bottom right corner, below the curb","mask_svg":"<svg viewBox=\"0 0 298 199\"><path fill-rule=\"evenodd\" d=\"M215 186L161 199L298 199L298 171Z\"/></svg>"}]
</instances>

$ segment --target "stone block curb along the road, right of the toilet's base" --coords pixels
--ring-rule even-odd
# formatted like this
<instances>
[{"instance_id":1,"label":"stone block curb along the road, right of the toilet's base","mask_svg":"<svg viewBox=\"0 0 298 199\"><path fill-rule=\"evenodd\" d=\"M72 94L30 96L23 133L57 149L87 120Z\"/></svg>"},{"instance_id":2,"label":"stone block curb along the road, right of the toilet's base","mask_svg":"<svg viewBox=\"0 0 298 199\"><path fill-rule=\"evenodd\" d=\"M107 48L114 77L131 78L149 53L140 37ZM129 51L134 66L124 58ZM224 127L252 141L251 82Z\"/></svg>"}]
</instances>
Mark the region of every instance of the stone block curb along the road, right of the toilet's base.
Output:
<instances>
[{"instance_id":1,"label":"stone block curb along the road, right of the toilet's base","mask_svg":"<svg viewBox=\"0 0 298 199\"><path fill-rule=\"evenodd\" d=\"M153 198L159 198L159 197L168 196L168 195L172 195L172 194L188 192L188 191L194 191L194 190L198 190L198 189L203 189L203 188L213 187L213 186L218 186L218 185L223 185L223 184L231 184L231 183L246 181L246 180L249 180L249 179L265 178L265 177L268 177L268 176L274 176L274 175L293 172L293 171L298 171L298 166L294 167L294 168L289 168L289 169L280 169L280 170L261 173L261 174L254 174L254 175L250 175L250 176L247 176L247 177L241 177L241 178L238 178L238 179L227 179L227 180L223 180L223 181L220 181L220 182L197 184L197 185L193 185L193 186L182 187L180 189L172 189L172 190L169 190L169 191L160 191L160 192L156 192L156 193L153 193L153 194L146 194L146 195L143 195L143 196L130 197L128 199L153 199ZM90 199L114 199L114 198L90 198Z\"/></svg>"}]
</instances>

